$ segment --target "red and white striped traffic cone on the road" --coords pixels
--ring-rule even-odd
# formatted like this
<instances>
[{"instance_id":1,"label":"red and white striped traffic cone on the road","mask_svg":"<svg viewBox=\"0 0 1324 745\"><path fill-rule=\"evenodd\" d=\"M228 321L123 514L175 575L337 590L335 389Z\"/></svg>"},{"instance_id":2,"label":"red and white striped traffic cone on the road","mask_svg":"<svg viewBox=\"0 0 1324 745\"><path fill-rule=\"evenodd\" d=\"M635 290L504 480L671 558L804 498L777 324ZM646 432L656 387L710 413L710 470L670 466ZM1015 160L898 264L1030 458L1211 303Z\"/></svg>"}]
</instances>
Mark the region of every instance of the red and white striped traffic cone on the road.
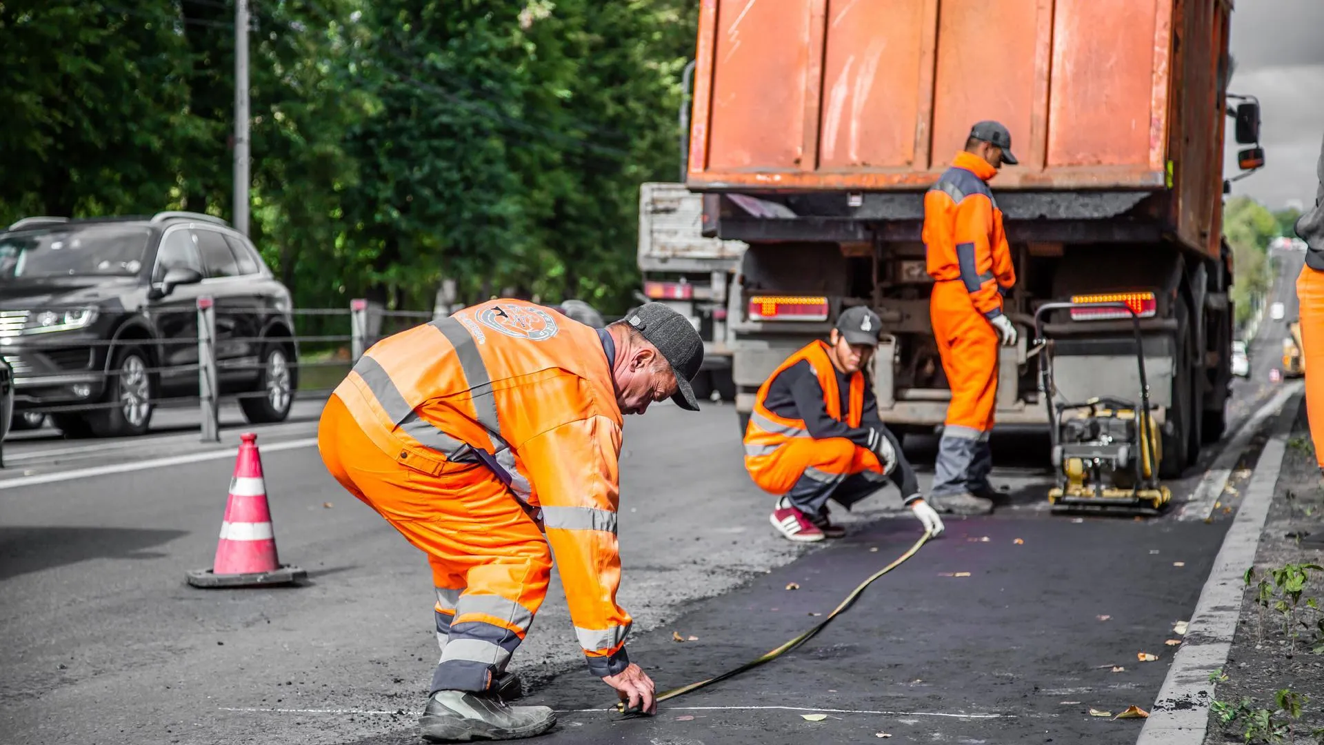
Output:
<instances>
[{"instance_id":1,"label":"red and white striped traffic cone on the road","mask_svg":"<svg viewBox=\"0 0 1324 745\"><path fill-rule=\"evenodd\" d=\"M245 432L240 439L216 559L212 569L188 573L188 583L195 587L289 585L307 577L297 566L282 565L277 555L257 435Z\"/></svg>"}]
</instances>

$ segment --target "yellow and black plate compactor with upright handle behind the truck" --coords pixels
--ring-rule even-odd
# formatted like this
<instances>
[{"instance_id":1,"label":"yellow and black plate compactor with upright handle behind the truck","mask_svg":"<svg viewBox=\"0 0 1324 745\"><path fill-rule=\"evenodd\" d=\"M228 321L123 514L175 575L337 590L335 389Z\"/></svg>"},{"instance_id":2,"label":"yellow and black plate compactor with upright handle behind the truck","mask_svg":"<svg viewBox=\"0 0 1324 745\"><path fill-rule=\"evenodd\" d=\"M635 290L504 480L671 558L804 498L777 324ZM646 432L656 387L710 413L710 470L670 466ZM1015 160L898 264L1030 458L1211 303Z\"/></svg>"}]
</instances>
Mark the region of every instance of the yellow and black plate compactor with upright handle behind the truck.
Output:
<instances>
[{"instance_id":1,"label":"yellow and black plate compactor with upright handle behind the truck","mask_svg":"<svg viewBox=\"0 0 1324 745\"><path fill-rule=\"evenodd\" d=\"M1140 400L1112 396L1058 402L1053 382L1053 339L1043 335L1043 317L1053 310L1116 308L1131 317L1140 366ZM1149 407L1140 318L1125 302L1049 302L1034 312L1039 349L1039 396L1049 408L1055 485L1049 490L1053 512L1160 514L1172 490L1158 483L1162 437Z\"/></svg>"}]
</instances>

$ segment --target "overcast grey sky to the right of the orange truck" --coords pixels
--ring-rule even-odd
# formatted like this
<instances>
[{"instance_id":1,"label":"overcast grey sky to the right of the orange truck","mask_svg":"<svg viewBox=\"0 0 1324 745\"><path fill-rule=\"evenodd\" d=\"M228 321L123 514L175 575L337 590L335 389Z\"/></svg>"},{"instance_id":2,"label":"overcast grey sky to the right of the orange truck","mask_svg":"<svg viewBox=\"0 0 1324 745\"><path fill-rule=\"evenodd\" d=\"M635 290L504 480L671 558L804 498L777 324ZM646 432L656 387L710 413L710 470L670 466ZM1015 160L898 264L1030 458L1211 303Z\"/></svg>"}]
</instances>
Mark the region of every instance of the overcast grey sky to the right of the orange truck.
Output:
<instances>
[{"instance_id":1,"label":"overcast grey sky to the right of the orange truck","mask_svg":"<svg viewBox=\"0 0 1324 745\"><path fill-rule=\"evenodd\" d=\"M1259 98L1264 167L1233 183L1270 209L1315 204L1315 166L1324 141L1324 0L1237 0L1229 93ZM1227 119L1225 175L1241 174Z\"/></svg>"}]
</instances>

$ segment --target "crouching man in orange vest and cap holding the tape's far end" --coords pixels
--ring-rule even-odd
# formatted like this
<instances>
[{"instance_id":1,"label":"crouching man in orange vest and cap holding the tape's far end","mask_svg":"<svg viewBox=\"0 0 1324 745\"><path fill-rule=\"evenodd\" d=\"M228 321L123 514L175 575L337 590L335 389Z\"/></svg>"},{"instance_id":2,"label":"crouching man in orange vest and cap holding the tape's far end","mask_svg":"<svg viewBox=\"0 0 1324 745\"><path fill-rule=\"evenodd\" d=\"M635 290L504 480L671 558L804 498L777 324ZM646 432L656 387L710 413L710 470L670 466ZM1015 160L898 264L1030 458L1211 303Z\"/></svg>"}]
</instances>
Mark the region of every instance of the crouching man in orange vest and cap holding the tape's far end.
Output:
<instances>
[{"instance_id":1,"label":"crouching man in orange vest and cap holding the tape's far end","mask_svg":"<svg viewBox=\"0 0 1324 745\"><path fill-rule=\"evenodd\" d=\"M779 496L769 521L792 541L845 536L828 517L828 500L850 509L888 477L924 528L943 532L865 380L880 330L873 310L846 309L828 342L816 339L792 354L759 388L745 430L745 468L755 484Z\"/></svg>"}]
</instances>

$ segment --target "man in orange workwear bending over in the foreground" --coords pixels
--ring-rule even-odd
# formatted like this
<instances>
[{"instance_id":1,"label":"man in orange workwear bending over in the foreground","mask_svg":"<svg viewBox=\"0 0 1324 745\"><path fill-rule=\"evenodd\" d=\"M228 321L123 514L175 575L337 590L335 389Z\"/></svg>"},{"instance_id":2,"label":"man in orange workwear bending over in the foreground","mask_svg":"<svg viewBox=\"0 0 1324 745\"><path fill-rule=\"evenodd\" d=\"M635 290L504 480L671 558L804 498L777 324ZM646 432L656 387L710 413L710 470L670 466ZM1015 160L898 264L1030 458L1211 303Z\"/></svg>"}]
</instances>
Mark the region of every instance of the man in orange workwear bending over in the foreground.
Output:
<instances>
[{"instance_id":1,"label":"man in orange workwear bending over in the foreground","mask_svg":"<svg viewBox=\"0 0 1324 745\"><path fill-rule=\"evenodd\" d=\"M552 551L589 672L657 711L616 603L621 416L665 399L698 411L690 380L702 362L694 326L662 304L592 329L494 300L387 337L336 387L318 430L327 469L432 565L441 660L424 738L507 740L555 724L549 708L502 693Z\"/></svg>"}]
</instances>

